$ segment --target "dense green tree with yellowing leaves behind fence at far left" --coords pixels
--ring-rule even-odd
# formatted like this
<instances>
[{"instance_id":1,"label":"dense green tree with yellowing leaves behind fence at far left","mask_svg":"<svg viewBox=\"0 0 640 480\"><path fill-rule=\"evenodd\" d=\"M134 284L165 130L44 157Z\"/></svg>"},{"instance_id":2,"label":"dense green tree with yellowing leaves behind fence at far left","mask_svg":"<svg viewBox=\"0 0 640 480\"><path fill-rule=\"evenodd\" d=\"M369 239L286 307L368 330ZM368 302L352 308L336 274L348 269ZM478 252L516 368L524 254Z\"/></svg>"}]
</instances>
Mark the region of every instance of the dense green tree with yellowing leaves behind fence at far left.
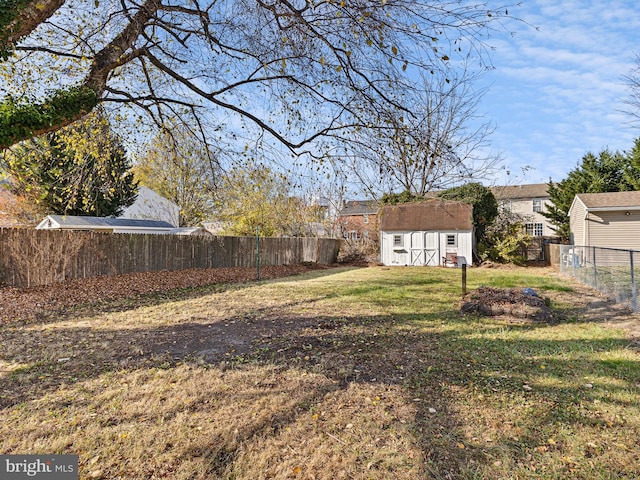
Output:
<instances>
[{"instance_id":1,"label":"dense green tree with yellowing leaves behind fence at far left","mask_svg":"<svg viewBox=\"0 0 640 480\"><path fill-rule=\"evenodd\" d=\"M138 192L131 163L97 113L6 150L0 164L12 193L59 215L118 216L130 206Z\"/></svg>"}]
</instances>

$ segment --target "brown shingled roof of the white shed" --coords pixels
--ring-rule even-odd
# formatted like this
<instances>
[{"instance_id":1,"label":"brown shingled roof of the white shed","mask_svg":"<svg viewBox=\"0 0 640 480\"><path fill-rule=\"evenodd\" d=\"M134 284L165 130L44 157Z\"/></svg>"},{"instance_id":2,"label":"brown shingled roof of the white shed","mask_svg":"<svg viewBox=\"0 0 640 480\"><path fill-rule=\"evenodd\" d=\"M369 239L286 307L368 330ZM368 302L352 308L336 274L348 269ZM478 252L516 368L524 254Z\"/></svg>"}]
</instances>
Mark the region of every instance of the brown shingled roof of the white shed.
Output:
<instances>
[{"instance_id":1,"label":"brown shingled roof of the white shed","mask_svg":"<svg viewBox=\"0 0 640 480\"><path fill-rule=\"evenodd\" d=\"M444 200L388 205L382 208L380 229L387 232L472 230L473 206Z\"/></svg>"}]
</instances>

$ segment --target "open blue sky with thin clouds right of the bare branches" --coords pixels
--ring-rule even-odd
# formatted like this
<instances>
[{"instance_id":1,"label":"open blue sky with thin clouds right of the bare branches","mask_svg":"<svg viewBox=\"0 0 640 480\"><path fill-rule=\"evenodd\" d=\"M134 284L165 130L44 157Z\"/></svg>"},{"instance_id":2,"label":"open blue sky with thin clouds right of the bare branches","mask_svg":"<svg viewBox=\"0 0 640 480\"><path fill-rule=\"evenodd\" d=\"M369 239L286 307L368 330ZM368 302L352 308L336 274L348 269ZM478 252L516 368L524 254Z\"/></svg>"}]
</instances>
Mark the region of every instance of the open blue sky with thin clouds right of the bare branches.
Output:
<instances>
[{"instance_id":1,"label":"open blue sky with thin clouds right of the bare branches","mask_svg":"<svg viewBox=\"0 0 640 480\"><path fill-rule=\"evenodd\" d=\"M640 54L636 1L524 0L509 13L524 22L490 39L480 104L511 172L495 183L559 181L589 151L631 149L640 128L621 110Z\"/></svg>"}]
</instances>

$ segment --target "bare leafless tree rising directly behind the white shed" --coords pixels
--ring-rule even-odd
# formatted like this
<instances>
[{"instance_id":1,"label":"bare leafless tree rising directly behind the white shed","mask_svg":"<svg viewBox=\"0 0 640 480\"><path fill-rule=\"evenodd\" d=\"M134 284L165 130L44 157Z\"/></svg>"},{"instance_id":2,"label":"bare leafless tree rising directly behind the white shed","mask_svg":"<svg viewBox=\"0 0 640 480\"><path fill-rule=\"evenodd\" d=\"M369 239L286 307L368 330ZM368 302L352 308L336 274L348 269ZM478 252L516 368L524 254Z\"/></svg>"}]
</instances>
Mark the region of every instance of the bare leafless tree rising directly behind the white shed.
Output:
<instances>
[{"instance_id":1,"label":"bare leafless tree rising directly behind the white shed","mask_svg":"<svg viewBox=\"0 0 640 480\"><path fill-rule=\"evenodd\" d=\"M409 92L408 115L379 114L374 135L362 135L348 166L372 196L407 191L424 196L495 172L500 162L489 150L492 125L477 113L483 91L478 74L463 69L430 74L419 92Z\"/></svg>"}]
</instances>

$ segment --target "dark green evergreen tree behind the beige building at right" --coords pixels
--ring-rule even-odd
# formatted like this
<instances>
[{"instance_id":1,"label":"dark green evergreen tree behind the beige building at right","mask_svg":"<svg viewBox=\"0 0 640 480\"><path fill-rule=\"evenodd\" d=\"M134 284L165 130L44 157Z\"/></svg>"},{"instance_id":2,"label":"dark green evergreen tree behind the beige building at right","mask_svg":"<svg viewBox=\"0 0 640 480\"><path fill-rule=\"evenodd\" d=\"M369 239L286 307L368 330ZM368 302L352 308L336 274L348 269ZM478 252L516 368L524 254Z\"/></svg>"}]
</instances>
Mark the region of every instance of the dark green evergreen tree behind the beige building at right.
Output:
<instances>
[{"instance_id":1,"label":"dark green evergreen tree behind the beige building at right","mask_svg":"<svg viewBox=\"0 0 640 480\"><path fill-rule=\"evenodd\" d=\"M569 209L578 193L603 193L635 190L640 186L638 153L640 140L626 154L603 150L598 155L589 152L580 163L558 183L549 182L549 200L541 212L556 228L556 234L569 239Z\"/></svg>"}]
</instances>

